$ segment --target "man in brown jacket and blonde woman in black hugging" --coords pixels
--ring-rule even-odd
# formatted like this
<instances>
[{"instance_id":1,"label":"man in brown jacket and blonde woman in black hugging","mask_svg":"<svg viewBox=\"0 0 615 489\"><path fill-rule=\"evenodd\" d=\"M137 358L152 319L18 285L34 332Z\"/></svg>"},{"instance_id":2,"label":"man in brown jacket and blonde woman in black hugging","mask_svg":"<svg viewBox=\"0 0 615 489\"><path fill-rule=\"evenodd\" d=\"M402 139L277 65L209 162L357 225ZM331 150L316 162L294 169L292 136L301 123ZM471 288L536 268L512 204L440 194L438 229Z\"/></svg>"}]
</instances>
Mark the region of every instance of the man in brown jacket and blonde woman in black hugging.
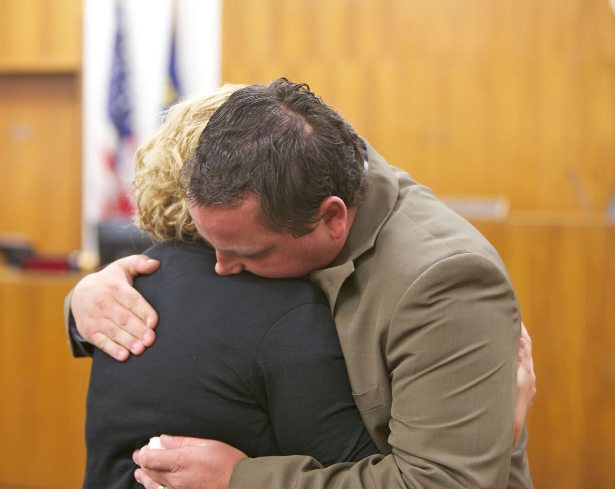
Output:
<instances>
[{"instance_id":1,"label":"man in brown jacket and blonde woman in black hugging","mask_svg":"<svg viewBox=\"0 0 615 489\"><path fill-rule=\"evenodd\" d=\"M133 194L159 244L65 303L84 487L532 487L498 253L307 85L174 106Z\"/></svg>"}]
</instances>

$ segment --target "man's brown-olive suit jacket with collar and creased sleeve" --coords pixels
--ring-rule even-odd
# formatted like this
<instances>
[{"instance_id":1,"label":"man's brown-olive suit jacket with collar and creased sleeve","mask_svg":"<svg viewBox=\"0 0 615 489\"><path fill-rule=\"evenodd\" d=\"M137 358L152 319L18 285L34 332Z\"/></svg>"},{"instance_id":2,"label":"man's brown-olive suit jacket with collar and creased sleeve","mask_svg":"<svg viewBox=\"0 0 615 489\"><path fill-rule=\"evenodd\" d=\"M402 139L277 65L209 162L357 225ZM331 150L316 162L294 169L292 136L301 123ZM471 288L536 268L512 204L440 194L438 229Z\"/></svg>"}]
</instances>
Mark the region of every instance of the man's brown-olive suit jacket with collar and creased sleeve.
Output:
<instances>
[{"instance_id":1,"label":"man's brown-olive suit jacket with collar and creased sleeve","mask_svg":"<svg viewBox=\"0 0 615 489\"><path fill-rule=\"evenodd\" d=\"M531 488L525 429L512 447L520 312L504 264L367 147L370 188L346 245L310 279L329 298L382 455L327 468L306 456L244 459L229 487Z\"/></svg>"}]
</instances>

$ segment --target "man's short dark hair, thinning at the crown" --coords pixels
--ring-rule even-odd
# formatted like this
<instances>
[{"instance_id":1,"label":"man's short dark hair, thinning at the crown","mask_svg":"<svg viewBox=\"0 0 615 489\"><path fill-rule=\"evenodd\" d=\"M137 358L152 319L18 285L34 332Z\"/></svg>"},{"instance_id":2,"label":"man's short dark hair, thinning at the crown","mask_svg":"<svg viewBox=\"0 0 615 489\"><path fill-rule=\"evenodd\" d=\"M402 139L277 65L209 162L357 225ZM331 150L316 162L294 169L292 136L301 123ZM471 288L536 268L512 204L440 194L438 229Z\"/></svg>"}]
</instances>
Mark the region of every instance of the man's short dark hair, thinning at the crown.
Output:
<instances>
[{"instance_id":1,"label":"man's short dark hair, thinning at the crown","mask_svg":"<svg viewBox=\"0 0 615 489\"><path fill-rule=\"evenodd\" d=\"M232 93L200 135L181 181L191 205L254 193L269 229L303 236L323 199L359 205L367 188L357 133L307 84L279 78Z\"/></svg>"}]
</instances>

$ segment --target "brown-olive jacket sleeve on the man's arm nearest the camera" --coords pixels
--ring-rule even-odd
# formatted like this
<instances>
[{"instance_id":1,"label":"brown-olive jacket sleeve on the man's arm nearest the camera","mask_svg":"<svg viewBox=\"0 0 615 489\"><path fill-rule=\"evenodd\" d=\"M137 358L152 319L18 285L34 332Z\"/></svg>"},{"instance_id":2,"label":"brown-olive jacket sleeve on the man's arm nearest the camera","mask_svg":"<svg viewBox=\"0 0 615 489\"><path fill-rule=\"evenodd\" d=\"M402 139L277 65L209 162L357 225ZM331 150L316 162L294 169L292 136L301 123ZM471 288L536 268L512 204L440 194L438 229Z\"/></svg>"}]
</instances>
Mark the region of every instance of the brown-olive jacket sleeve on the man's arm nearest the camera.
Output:
<instances>
[{"instance_id":1,"label":"brown-olive jacket sleeve on the man's arm nearest the camera","mask_svg":"<svg viewBox=\"0 0 615 489\"><path fill-rule=\"evenodd\" d=\"M493 261L461 253L432 264L389 322L391 455L326 468L300 456L244 459L229 487L507 487L519 335L517 299Z\"/></svg>"}]
</instances>

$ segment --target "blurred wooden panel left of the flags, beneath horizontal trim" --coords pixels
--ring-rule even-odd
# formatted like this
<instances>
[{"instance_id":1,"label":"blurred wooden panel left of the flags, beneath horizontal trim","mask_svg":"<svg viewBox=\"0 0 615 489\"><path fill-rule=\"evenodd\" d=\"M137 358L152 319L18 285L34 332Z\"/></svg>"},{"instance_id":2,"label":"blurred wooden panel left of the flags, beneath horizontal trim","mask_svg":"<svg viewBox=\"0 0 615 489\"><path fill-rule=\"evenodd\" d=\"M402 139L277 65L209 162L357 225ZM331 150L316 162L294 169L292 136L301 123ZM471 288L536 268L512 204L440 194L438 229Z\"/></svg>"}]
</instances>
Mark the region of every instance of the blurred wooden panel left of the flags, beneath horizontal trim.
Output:
<instances>
[{"instance_id":1,"label":"blurred wooden panel left of the flags, beneath horizontal trim","mask_svg":"<svg viewBox=\"0 0 615 489\"><path fill-rule=\"evenodd\" d=\"M44 253L81 245L80 90L70 74L0 76L0 232Z\"/></svg>"}]
</instances>

